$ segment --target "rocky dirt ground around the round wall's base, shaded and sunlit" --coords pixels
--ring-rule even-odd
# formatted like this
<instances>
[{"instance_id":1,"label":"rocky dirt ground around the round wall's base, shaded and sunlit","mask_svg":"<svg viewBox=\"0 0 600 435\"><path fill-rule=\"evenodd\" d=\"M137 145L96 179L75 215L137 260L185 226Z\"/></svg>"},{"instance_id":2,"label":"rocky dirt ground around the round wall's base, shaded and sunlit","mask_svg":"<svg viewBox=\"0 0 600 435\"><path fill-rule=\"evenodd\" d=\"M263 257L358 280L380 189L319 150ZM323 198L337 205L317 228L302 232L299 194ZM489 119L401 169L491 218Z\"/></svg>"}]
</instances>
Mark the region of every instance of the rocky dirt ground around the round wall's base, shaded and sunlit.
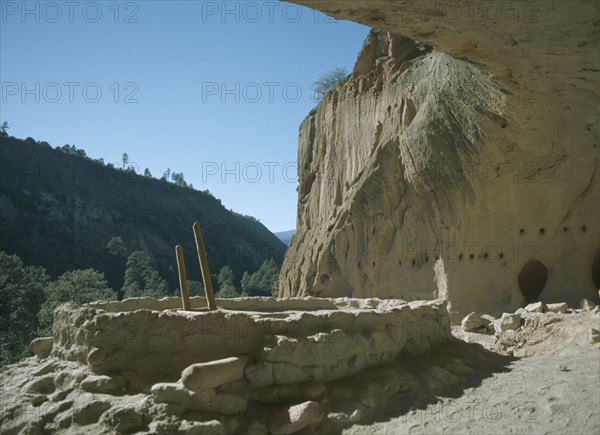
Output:
<instances>
[{"instance_id":1,"label":"rocky dirt ground around the round wall's base, shaded and sunlit","mask_svg":"<svg viewBox=\"0 0 600 435\"><path fill-rule=\"evenodd\" d=\"M315 397L306 402L314 408L305 413L310 421L279 432L599 434L600 312L524 316L516 331L499 335L465 333L454 326L454 338L428 352L403 353L349 378L319 384L306 393ZM35 358L0 370L0 434L112 434L126 421L121 415L126 411L137 428L126 433L266 434L279 415L277 401L272 409L260 408L273 414L258 413L256 421L247 413L183 415L183 408L176 412L147 394L75 388L87 370L76 362ZM41 388L57 379L61 387L55 392L24 393L32 382ZM281 394L299 396L298 403L308 400L297 386L290 388Z\"/></svg>"}]
</instances>

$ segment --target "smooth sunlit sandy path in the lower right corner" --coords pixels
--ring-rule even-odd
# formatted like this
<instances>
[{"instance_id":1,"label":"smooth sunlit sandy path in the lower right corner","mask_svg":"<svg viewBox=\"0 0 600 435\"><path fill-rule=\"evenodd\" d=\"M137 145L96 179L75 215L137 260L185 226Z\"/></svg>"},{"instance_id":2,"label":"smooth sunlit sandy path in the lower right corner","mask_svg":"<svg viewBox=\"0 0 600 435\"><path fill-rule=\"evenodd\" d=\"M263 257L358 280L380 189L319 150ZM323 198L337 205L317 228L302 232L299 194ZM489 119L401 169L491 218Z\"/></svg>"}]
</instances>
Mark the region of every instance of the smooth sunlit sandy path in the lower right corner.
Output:
<instances>
[{"instance_id":1,"label":"smooth sunlit sandy path in the lower right corner","mask_svg":"<svg viewBox=\"0 0 600 435\"><path fill-rule=\"evenodd\" d=\"M379 422L344 433L598 434L600 348L586 341L590 322L597 326L598 317L566 319L546 341L532 344L536 355L512 360L506 371L492 368L480 385L405 413L392 405Z\"/></svg>"}]
</instances>

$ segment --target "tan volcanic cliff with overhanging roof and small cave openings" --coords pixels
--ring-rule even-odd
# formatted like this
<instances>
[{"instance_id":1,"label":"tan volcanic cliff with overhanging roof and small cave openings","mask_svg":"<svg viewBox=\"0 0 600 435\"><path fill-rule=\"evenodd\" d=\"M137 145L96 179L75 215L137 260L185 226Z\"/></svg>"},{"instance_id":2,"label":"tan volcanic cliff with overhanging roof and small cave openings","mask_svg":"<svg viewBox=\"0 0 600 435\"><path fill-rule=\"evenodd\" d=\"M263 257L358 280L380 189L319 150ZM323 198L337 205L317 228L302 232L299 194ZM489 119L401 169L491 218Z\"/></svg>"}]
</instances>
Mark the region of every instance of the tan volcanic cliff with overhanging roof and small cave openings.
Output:
<instances>
[{"instance_id":1,"label":"tan volcanic cliff with overhanging roof and small cave openings","mask_svg":"<svg viewBox=\"0 0 600 435\"><path fill-rule=\"evenodd\" d=\"M280 296L597 299L595 2L295 3L381 30L300 127Z\"/></svg>"}]
</instances>

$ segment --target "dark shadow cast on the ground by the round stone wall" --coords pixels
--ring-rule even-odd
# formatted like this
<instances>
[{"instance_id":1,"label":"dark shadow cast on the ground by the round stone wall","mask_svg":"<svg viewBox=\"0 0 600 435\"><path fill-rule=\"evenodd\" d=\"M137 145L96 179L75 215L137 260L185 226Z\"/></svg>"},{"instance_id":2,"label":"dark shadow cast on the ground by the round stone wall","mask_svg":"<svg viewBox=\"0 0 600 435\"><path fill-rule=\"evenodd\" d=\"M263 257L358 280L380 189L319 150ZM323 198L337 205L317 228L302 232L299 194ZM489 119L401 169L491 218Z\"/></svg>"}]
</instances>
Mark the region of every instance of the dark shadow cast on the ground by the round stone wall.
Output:
<instances>
[{"instance_id":1,"label":"dark shadow cast on the ground by the round stone wall","mask_svg":"<svg viewBox=\"0 0 600 435\"><path fill-rule=\"evenodd\" d=\"M424 410L444 398L461 397L495 373L508 372L517 358L460 340L441 343L426 355L405 356L328 384L328 417L303 433L340 433Z\"/></svg>"}]
</instances>

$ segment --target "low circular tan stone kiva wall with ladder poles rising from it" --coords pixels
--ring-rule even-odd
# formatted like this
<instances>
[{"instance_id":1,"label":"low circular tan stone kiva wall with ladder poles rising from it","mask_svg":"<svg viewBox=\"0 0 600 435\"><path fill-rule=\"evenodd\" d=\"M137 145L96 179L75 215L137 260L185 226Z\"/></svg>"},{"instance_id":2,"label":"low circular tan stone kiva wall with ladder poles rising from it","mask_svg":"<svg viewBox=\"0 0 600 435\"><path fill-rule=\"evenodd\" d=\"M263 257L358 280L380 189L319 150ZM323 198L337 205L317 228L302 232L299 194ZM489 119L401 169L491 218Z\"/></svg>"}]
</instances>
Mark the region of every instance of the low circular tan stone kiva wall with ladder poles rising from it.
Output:
<instances>
[{"instance_id":1,"label":"low circular tan stone kiva wall with ladder poles rising from it","mask_svg":"<svg viewBox=\"0 0 600 435\"><path fill-rule=\"evenodd\" d=\"M206 311L203 298L192 298L192 311L178 309L180 303L138 298L62 305L52 356L87 364L97 374L127 373L140 388L176 380L191 364L238 356L253 361L247 374L259 383L275 382L276 372L328 381L451 336L441 302L240 298L217 300L216 311Z\"/></svg>"}]
</instances>

